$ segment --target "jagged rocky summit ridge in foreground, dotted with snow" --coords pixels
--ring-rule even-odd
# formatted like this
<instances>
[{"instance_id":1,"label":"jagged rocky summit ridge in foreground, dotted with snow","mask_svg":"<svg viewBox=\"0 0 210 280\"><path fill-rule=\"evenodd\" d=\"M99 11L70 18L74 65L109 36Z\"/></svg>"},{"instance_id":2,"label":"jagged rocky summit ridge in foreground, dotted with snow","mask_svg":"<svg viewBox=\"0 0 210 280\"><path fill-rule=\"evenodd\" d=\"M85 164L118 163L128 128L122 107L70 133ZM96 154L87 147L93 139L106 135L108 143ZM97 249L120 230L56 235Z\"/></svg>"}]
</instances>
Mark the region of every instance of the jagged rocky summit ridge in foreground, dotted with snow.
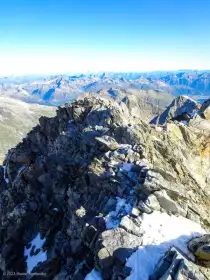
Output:
<instances>
[{"instance_id":1,"label":"jagged rocky summit ridge in foreground, dotted with snow","mask_svg":"<svg viewBox=\"0 0 210 280\"><path fill-rule=\"evenodd\" d=\"M0 169L1 279L210 279L208 108L152 125L87 96L41 117Z\"/></svg>"}]
</instances>

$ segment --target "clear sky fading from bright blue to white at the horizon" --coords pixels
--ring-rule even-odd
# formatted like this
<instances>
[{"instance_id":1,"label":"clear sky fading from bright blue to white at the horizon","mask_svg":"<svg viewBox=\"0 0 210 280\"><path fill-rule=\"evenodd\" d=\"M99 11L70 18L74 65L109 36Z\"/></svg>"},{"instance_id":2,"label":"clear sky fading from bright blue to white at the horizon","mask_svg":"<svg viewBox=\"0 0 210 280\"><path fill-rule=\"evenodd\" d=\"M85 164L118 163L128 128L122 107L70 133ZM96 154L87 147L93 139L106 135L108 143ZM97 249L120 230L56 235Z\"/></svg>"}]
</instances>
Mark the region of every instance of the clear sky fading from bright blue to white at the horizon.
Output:
<instances>
[{"instance_id":1,"label":"clear sky fading from bright blue to white at the horizon","mask_svg":"<svg viewBox=\"0 0 210 280\"><path fill-rule=\"evenodd\" d=\"M1 0L0 74L210 69L209 0Z\"/></svg>"}]
</instances>

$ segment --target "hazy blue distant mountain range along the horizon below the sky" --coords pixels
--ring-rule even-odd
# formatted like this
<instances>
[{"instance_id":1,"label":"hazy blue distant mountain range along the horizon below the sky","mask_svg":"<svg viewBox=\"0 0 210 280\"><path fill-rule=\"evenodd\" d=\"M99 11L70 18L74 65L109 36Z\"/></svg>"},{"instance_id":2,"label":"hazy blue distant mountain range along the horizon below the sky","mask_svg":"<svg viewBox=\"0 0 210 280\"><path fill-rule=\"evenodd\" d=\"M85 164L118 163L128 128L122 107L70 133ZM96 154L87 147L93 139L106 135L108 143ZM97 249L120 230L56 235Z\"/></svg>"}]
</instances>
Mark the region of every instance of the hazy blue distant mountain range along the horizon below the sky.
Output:
<instances>
[{"instance_id":1,"label":"hazy blue distant mountain range along the horizon below the sky","mask_svg":"<svg viewBox=\"0 0 210 280\"><path fill-rule=\"evenodd\" d=\"M28 103L60 105L85 93L108 94L122 99L131 93L160 107L168 106L174 96L183 94L203 101L210 95L210 72L90 73L0 78L0 96Z\"/></svg>"}]
</instances>

